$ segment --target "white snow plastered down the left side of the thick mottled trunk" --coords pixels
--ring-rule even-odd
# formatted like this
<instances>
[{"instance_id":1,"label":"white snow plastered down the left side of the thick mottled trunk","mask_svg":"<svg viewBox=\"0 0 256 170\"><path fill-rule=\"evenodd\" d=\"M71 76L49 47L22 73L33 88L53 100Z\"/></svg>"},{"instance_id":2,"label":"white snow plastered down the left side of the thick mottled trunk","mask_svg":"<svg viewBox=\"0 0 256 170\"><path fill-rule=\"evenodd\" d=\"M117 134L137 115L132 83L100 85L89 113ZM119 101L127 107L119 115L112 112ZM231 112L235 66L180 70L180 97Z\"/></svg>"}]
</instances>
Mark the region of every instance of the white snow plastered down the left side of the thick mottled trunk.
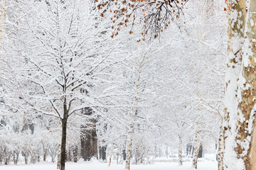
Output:
<instances>
[{"instance_id":1,"label":"white snow plastered down the left side of the thick mottled trunk","mask_svg":"<svg viewBox=\"0 0 256 170\"><path fill-rule=\"evenodd\" d=\"M234 3L236 3L234 1ZM240 15L239 15L240 16ZM238 19L238 11L230 12L230 21L231 27ZM236 147L235 137L237 134L237 120L238 120L238 101L241 91L238 88L239 84L242 84L244 78L242 75L242 67L240 64L230 63L229 60L233 60L235 57L234 54L240 55L238 51L242 48L243 38L238 35L238 33L234 33L233 38L230 40L230 45L233 48L231 52L228 54L227 63L230 66L227 69L225 74L225 83L228 84L228 87L225 91L225 108L227 108L227 112L229 113L230 120L229 122L224 123L224 127L229 127L230 131L226 130L225 132L225 151L224 151L224 169L233 169L233 170L241 170L244 169L244 162L242 159L237 158L237 154L235 153L234 148ZM237 59L238 60L238 59ZM239 82L238 82L239 81ZM240 118L241 119L241 118ZM228 166L228 168L227 168Z\"/></svg>"}]
</instances>

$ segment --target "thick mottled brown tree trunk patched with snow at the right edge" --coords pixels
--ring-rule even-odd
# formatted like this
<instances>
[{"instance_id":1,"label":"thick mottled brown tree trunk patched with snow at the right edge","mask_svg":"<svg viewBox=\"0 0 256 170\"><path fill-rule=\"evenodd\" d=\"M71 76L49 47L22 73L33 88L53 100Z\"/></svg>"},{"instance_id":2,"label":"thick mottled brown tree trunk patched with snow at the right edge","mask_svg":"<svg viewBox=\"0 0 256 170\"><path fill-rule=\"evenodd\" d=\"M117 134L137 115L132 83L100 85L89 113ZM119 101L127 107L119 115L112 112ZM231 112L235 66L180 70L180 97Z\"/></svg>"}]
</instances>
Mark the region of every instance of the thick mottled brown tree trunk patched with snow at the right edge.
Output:
<instances>
[{"instance_id":1,"label":"thick mottled brown tree trunk patched with snow at the right edge","mask_svg":"<svg viewBox=\"0 0 256 170\"><path fill-rule=\"evenodd\" d=\"M255 0L228 1L225 169L256 169Z\"/></svg>"}]
</instances>

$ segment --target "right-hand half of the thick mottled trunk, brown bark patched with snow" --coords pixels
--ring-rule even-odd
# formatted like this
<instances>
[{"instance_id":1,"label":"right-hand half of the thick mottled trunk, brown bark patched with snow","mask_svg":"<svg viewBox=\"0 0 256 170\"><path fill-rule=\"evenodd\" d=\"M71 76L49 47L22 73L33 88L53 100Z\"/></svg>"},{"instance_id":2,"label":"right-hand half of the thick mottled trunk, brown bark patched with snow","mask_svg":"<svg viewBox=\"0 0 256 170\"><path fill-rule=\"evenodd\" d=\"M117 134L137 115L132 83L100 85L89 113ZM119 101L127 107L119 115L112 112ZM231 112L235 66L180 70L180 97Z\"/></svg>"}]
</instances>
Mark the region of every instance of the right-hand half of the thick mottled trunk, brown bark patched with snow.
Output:
<instances>
[{"instance_id":1,"label":"right-hand half of the thick mottled trunk, brown bark patched with snow","mask_svg":"<svg viewBox=\"0 0 256 170\"><path fill-rule=\"evenodd\" d=\"M236 138L238 147L235 151L238 153L238 157L241 157L245 162L245 169L251 170L256 169L256 135L255 135L255 103L256 103L256 61L255 61L255 38L256 38L256 1L250 0L246 3L246 25L245 25L245 45L243 51L243 61L248 62L242 63L243 77L245 78L245 83L242 85L241 96L242 101L240 101L238 108L242 111L242 115L245 120L238 119L238 137ZM245 12L244 12L245 13ZM247 29L246 29L247 27ZM247 44L248 43L248 44ZM247 53L247 54L246 54ZM240 115L240 113L238 113ZM251 140L248 140L248 137ZM246 148L243 147L243 141L250 142L247 154L243 156L246 152Z\"/></svg>"}]
</instances>

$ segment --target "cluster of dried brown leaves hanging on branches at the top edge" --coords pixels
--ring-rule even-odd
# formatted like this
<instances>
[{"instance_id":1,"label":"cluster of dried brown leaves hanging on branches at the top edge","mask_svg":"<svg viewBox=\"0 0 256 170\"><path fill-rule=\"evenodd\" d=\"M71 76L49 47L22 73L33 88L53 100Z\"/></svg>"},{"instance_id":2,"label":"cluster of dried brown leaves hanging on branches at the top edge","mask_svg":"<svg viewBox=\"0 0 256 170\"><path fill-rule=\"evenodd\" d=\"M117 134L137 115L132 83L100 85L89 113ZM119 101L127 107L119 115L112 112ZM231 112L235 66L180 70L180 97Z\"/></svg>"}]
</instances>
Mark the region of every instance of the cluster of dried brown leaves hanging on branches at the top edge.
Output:
<instances>
[{"instance_id":1,"label":"cluster of dried brown leaves hanging on branches at the top edge","mask_svg":"<svg viewBox=\"0 0 256 170\"><path fill-rule=\"evenodd\" d=\"M107 11L112 13L112 37L118 35L122 26L128 26L135 19L142 21L142 35L157 38L168 28L171 21L183 14L182 8L188 0L95 0L100 16L105 16ZM132 32L132 28L129 31Z\"/></svg>"}]
</instances>

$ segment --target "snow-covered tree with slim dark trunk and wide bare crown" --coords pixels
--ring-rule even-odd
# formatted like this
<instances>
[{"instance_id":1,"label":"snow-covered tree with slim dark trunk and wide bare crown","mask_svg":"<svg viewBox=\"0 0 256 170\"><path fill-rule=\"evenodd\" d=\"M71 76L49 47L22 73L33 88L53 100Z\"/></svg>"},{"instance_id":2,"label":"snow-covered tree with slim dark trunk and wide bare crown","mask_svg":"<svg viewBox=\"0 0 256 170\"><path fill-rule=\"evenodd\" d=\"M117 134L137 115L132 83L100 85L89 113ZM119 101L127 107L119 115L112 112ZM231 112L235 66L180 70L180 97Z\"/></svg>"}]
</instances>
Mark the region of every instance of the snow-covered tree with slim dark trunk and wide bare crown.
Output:
<instances>
[{"instance_id":1,"label":"snow-covered tree with slim dark trunk and wide bare crown","mask_svg":"<svg viewBox=\"0 0 256 170\"><path fill-rule=\"evenodd\" d=\"M9 47L22 61L16 66L23 88L20 98L29 113L59 118L60 169L64 170L68 120L84 118L83 108L100 106L103 71L112 64L111 43L99 36L106 28L99 25L90 1L23 1L20 5L23 18L16 23L18 33Z\"/></svg>"}]
</instances>

